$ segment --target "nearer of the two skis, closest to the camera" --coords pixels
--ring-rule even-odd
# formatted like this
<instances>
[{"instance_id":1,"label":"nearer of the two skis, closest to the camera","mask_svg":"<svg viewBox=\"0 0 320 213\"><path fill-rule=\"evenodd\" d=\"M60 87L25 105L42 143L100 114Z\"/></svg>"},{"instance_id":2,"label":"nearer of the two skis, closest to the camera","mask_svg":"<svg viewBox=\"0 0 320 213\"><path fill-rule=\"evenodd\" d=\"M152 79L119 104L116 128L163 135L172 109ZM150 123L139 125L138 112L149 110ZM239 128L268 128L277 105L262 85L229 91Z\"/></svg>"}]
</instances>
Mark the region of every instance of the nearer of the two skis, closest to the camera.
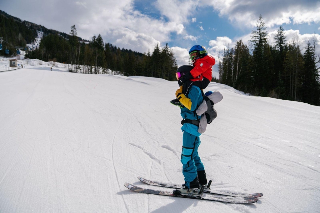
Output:
<instances>
[{"instance_id":1,"label":"nearer of the two skis, closest to the camera","mask_svg":"<svg viewBox=\"0 0 320 213\"><path fill-rule=\"evenodd\" d=\"M173 192L160 191L160 190L154 190L154 189L144 189L129 183L124 183L124 185L125 187L127 187L128 189L134 192L140 192L140 193L146 193L146 194L157 194L157 195L171 196L171 197L190 198L190 199L205 200L205 201L218 201L218 202L225 202L225 203L242 203L242 204L254 203L258 201L258 198L221 197L221 196L214 196L211 194L192 197L192 196L180 195L180 194L177 195L177 194L174 194Z\"/></svg>"}]
</instances>

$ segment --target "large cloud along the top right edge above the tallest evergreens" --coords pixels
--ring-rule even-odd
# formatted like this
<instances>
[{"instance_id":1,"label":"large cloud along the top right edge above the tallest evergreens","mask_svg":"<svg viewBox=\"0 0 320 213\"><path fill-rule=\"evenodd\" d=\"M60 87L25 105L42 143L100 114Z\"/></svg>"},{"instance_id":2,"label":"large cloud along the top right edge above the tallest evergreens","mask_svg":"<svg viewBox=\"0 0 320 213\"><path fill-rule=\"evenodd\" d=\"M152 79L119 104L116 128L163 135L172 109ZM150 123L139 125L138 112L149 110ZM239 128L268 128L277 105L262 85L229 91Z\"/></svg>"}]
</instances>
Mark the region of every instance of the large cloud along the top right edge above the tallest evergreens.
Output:
<instances>
[{"instance_id":1,"label":"large cloud along the top right edge above the tallest evergreens","mask_svg":"<svg viewBox=\"0 0 320 213\"><path fill-rule=\"evenodd\" d=\"M254 27L259 15L262 15L267 27L284 23L319 23L319 1L292 1L269 0L260 1L259 4L252 0L203 0L199 6L211 5L220 16L227 16L237 26Z\"/></svg>"}]
</instances>

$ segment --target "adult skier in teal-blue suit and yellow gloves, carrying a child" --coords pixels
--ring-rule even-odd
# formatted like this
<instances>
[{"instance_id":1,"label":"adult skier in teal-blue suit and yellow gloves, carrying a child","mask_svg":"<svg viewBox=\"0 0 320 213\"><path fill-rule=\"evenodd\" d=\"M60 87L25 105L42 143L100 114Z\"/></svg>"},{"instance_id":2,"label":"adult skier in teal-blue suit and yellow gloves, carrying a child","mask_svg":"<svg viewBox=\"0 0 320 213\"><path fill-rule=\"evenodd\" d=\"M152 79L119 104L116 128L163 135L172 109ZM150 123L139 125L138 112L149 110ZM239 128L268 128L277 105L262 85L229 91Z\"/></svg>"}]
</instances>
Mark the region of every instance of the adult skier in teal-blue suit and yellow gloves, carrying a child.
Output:
<instances>
[{"instance_id":1,"label":"adult skier in teal-blue suit and yellow gloves, carrying a child","mask_svg":"<svg viewBox=\"0 0 320 213\"><path fill-rule=\"evenodd\" d=\"M185 75L187 72L185 66L178 68L179 75ZM199 194L199 186L207 184L207 178L204 170L204 165L198 155L198 147L200 145L201 135L198 132L198 126L193 124L192 120L200 120L201 116L195 113L198 106L203 102L202 91L195 85L190 85L188 94L182 92L182 87L176 91L176 97L183 104L181 110L181 117L184 119L181 130L183 132L182 139L182 173L185 184L180 188L180 194L196 196Z\"/></svg>"}]
</instances>

